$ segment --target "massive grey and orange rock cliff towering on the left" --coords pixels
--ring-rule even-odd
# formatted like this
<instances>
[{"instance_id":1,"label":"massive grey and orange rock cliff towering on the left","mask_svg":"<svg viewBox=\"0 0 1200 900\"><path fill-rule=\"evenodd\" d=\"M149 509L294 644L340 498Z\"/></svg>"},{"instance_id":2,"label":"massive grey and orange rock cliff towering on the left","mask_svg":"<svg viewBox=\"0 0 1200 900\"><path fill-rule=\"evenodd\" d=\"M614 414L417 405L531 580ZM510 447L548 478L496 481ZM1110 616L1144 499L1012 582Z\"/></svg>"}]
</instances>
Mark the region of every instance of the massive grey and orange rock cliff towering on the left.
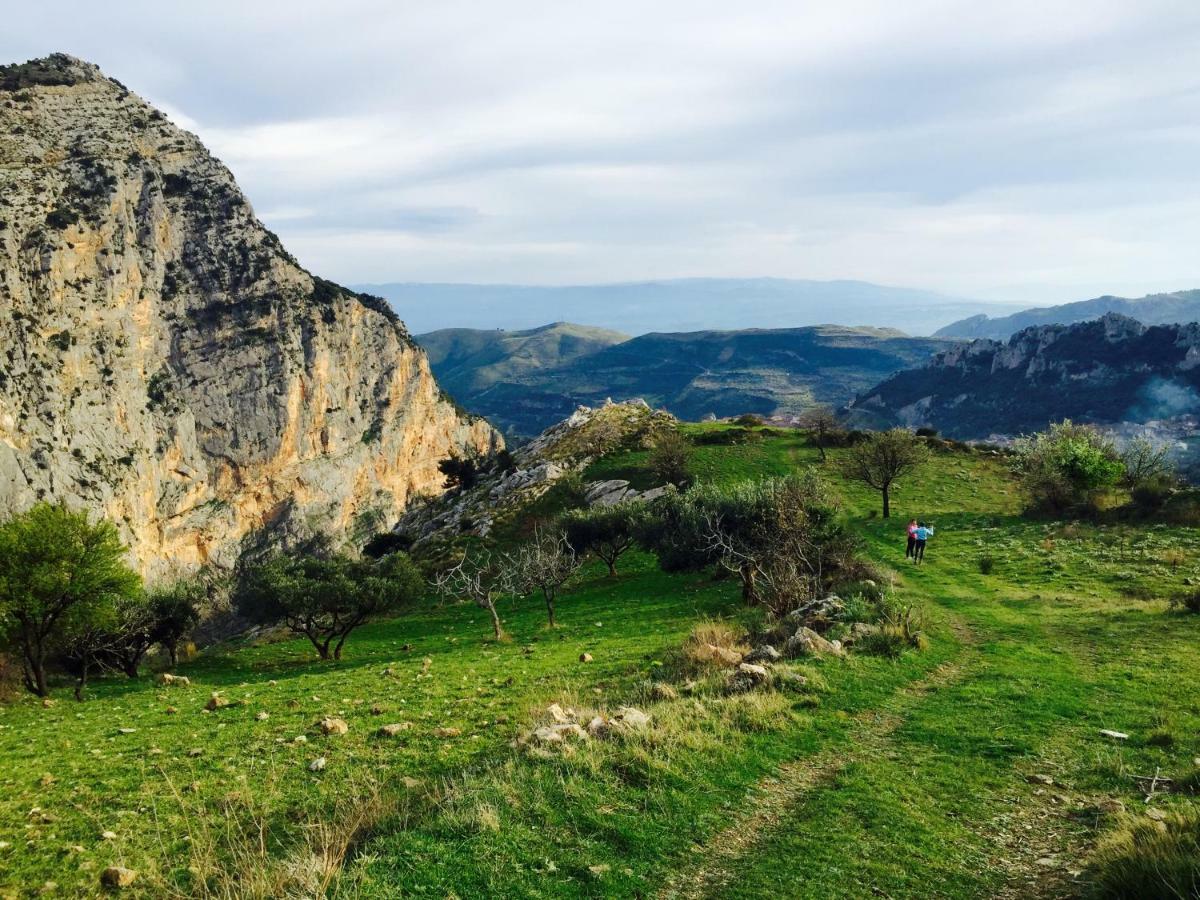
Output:
<instances>
[{"instance_id":1,"label":"massive grey and orange rock cliff towering on the left","mask_svg":"<svg viewBox=\"0 0 1200 900\"><path fill-rule=\"evenodd\" d=\"M0 512L65 499L150 575L374 529L498 436L388 306L306 272L192 134L88 64L0 68Z\"/></svg>"}]
</instances>

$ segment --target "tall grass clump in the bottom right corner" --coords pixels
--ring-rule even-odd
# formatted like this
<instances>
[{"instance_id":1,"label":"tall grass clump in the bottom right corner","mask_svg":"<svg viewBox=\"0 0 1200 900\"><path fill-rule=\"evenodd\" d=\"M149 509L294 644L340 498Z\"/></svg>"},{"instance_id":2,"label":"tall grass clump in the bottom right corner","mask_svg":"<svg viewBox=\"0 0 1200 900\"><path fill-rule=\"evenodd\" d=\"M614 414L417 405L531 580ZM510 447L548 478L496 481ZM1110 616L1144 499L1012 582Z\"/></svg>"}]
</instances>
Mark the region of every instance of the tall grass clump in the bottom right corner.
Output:
<instances>
[{"instance_id":1,"label":"tall grass clump in the bottom right corner","mask_svg":"<svg viewBox=\"0 0 1200 900\"><path fill-rule=\"evenodd\" d=\"M1195 896L1200 887L1200 812L1174 812L1162 822L1123 818L1100 840L1090 869L1097 898Z\"/></svg>"}]
</instances>

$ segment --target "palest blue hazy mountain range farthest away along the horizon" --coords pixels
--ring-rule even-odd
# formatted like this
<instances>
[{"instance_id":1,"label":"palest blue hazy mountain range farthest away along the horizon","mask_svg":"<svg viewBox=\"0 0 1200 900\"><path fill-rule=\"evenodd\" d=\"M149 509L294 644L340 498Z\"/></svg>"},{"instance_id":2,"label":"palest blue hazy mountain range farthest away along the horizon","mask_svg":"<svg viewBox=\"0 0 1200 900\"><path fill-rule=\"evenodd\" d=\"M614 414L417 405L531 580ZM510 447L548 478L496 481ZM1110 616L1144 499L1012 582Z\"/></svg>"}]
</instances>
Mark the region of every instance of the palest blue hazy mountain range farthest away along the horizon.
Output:
<instances>
[{"instance_id":1,"label":"palest blue hazy mountain range farthest away along the horizon","mask_svg":"<svg viewBox=\"0 0 1200 900\"><path fill-rule=\"evenodd\" d=\"M929 335L965 316L1015 312L930 290L863 281L679 278L622 284L371 284L414 332L445 328L536 328L582 322L632 335L649 331L874 325Z\"/></svg>"}]
</instances>

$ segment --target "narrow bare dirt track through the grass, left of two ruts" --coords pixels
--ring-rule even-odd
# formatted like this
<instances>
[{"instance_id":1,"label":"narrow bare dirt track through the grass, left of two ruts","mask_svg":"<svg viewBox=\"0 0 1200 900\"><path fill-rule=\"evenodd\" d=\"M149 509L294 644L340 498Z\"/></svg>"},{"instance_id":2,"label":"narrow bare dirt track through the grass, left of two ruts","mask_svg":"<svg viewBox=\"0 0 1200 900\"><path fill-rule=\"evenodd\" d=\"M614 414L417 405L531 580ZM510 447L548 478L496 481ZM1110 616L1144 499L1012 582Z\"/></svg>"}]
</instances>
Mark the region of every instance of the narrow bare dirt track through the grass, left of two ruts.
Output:
<instances>
[{"instance_id":1,"label":"narrow bare dirt track through the grass, left of two ruts","mask_svg":"<svg viewBox=\"0 0 1200 900\"><path fill-rule=\"evenodd\" d=\"M966 638L966 655L973 638L964 625L955 624L954 630L960 638ZM760 781L734 821L713 835L697 852L697 865L668 880L658 896L676 900L703 898L719 892L736 875L738 860L752 853L757 844L770 836L806 794L827 786L856 760L877 755L887 746L892 733L904 724L908 709L930 694L959 680L966 668L965 659L943 664L928 678L898 691L887 708L860 713L851 734L852 750L838 748L796 760L781 766L775 775Z\"/></svg>"}]
</instances>

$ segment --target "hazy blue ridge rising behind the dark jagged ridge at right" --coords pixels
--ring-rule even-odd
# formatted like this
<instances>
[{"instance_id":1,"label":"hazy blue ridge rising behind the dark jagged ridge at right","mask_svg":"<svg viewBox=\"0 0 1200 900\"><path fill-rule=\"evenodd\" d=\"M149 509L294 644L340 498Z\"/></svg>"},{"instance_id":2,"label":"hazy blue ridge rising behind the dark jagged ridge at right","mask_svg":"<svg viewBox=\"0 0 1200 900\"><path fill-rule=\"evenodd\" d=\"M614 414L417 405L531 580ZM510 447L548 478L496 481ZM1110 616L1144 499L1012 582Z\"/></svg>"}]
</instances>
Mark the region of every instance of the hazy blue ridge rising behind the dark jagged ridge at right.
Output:
<instances>
[{"instance_id":1,"label":"hazy blue ridge rising behind the dark jagged ridge at right","mask_svg":"<svg viewBox=\"0 0 1200 900\"><path fill-rule=\"evenodd\" d=\"M1120 313L1146 325L1182 324L1200 320L1200 290L1177 290L1172 294L1148 294L1138 300L1123 296L1098 296L1060 306L1022 310L1012 316L990 318L985 314L954 322L937 331L940 337L990 337L1004 341L1032 325L1070 325L1075 322L1098 319L1105 313Z\"/></svg>"}]
</instances>

